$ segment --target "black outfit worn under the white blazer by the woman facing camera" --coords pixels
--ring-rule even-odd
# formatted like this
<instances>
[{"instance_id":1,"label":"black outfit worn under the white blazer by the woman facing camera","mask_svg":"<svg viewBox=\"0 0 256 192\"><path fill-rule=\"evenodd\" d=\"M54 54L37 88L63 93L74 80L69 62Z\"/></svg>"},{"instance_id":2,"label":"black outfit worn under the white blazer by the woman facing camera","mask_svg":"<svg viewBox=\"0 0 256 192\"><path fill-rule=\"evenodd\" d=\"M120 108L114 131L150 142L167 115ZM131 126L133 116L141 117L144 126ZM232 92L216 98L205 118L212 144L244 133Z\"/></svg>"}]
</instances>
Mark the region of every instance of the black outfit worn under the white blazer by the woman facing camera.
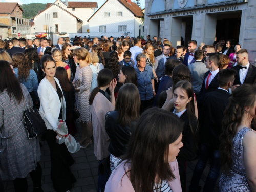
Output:
<instances>
[{"instance_id":1,"label":"black outfit worn under the white blazer by the woman facing camera","mask_svg":"<svg viewBox=\"0 0 256 192\"><path fill-rule=\"evenodd\" d=\"M55 82L56 83L56 82ZM57 94L59 99L63 94L56 83ZM62 109L60 108L59 118L62 119ZM48 130L44 137L50 148L51 156L51 179L53 181L53 188L57 192L66 192L72 188L72 183L76 182L75 176L71 173L70 166L75 163L70 155L67 146L63 143L61 145L56 142L56 132Z\"/></svg>"}]
</instances>

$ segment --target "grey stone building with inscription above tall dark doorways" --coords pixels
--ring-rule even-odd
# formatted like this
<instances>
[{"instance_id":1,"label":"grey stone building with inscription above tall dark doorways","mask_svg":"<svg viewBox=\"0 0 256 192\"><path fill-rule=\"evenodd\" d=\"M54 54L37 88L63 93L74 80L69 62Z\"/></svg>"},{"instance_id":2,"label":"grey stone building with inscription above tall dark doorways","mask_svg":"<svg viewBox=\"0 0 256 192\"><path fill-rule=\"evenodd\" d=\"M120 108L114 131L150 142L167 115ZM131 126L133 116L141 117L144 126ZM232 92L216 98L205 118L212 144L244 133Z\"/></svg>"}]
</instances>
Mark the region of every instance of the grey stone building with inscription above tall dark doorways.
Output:
<instances>
[{"instance_id":1,"label":"grey stone building with inscription above tall dark doorways","mask_svg":"<svg viewBox=\"0 0 256 192\"><path fill-rule=\"evenodd\" d=\"M221 37L234 39L256 60L255 0L145 0L145 34L169 39L173 46L212 45Z\"/></svg>"}]
</instances>

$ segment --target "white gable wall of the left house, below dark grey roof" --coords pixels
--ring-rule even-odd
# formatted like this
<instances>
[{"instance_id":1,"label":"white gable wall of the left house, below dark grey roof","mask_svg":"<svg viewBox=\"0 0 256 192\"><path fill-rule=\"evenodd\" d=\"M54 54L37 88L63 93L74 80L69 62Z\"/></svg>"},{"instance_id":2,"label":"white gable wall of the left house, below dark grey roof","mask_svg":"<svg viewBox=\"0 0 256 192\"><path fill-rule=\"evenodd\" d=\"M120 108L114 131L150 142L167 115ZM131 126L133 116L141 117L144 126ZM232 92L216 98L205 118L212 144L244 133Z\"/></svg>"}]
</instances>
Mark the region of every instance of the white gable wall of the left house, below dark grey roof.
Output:
<instances>
[{"instance_id":1,"label":"white gable wall of the left house, below dark grey roof","mask_svg":"<svg viewBox=\"0 0 256 192\"><path fill-rule=\"evenodd\" d=\"M58 18L53 18L53 13L57 12L58 13ZM50 21L48 18L48 24L49 24L49 30L50 30L50 23L52 27L52 31L55 32L55 24L58 24L58 31L59 32L67 32L66 36L69 36L70 33L76 33L77 32L77 27L76 23L77 20L75 17L71 16L69 13L66 11L60 9L56 5L53 5L46 9L44 12L40 13L37 15L34 20L35 20L35 33L39 32L46 32L44 30L44 25L47 25L45 22L45 14L50 14Z\"/></svg>"}]
</instances>

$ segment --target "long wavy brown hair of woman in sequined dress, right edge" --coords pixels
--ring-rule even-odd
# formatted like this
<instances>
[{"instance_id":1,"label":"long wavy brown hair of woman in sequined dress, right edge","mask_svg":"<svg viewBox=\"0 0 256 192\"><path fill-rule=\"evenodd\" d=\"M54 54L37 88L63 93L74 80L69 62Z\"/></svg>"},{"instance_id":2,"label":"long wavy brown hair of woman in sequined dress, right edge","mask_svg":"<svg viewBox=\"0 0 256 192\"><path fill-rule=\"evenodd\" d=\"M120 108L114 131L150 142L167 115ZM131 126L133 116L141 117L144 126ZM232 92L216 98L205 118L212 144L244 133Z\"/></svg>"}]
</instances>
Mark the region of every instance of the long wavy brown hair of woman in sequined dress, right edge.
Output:
<instances>
[{"instance_id":1,"label":"long wavy brown hair of woman in sequined dress, right edge","mask_svg":"<svg viewBox=\"0 0 256 192\"><path fill-rule=\"evenodd\" d=\"M256 88L249 84L243 84L233 91L229 103L224 111L222 121L222 134L220 135L220 156L222 172L230 174L233 165L232 150L233 138L237 133L237 127L242 121L246 106L254 106ZM255 122L255 119L254 119Z\"/></svg>"}]
</instances>

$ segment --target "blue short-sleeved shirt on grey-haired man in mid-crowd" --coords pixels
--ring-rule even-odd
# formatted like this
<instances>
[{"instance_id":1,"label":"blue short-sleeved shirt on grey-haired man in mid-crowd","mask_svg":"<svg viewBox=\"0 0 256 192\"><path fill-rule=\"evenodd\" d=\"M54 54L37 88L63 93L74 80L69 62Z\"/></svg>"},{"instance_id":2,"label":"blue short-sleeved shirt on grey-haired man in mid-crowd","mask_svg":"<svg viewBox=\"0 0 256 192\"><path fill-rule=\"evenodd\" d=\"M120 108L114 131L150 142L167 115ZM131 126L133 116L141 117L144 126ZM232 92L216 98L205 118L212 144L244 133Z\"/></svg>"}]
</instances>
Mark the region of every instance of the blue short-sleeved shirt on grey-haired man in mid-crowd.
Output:
<instances>
[{"instance_id":1,"label":"blue short-sleeved shirt on grey-haired man in mid-crowd","mask_svg":"<svg viewBox=\"0 0 256 192\"><path fill-rule=\"evenodd\" d=\"M152 67L145 66L144 71L140 71L137 66L135 70L138 76L138 89L140 92L140 99L142 101L152 99L153 89L151 79L155 79Z\"/></svg>"}]
</instances>

